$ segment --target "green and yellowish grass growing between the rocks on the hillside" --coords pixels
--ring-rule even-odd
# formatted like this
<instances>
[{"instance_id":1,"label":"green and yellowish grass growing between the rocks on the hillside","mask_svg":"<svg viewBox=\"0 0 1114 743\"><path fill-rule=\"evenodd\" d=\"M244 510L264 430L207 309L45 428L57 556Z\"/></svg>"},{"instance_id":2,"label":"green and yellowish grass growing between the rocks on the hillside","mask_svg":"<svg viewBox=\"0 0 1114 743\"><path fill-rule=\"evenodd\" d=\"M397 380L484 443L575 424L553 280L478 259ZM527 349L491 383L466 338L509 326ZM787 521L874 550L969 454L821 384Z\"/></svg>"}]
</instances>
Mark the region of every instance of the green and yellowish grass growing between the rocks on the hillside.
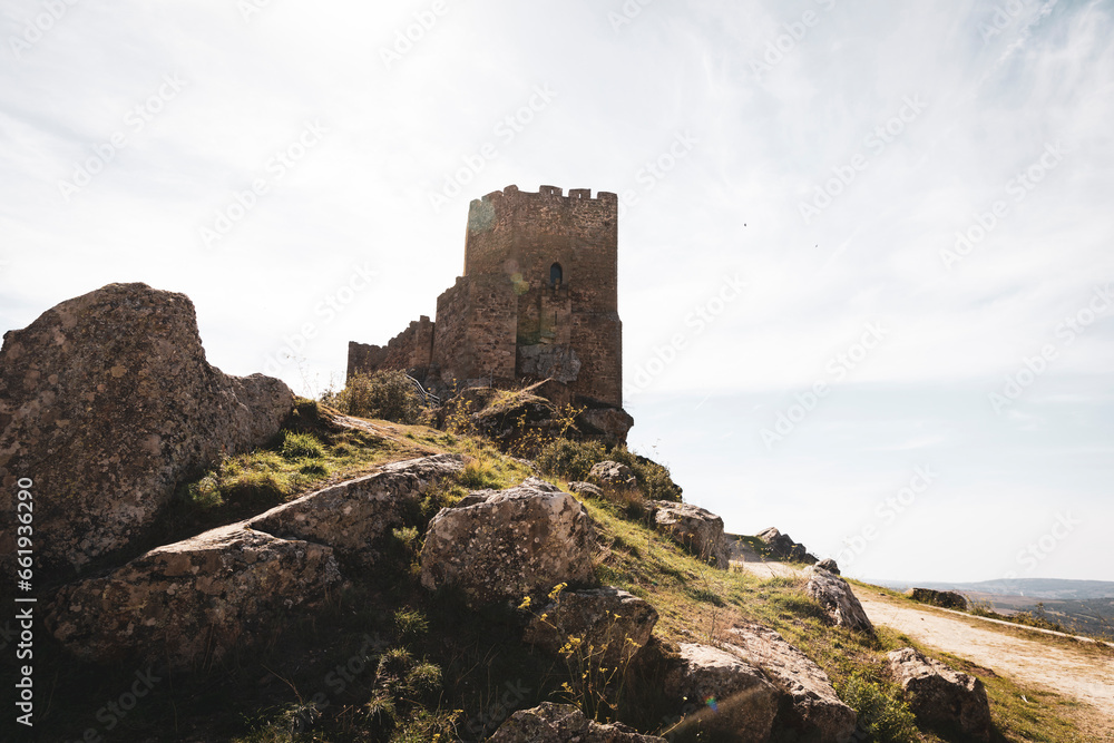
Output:
<instances>
[{"instance_id":1,"label":"green and yellowish grass growing between the rocks on the hillside","mask_svg":"<svg viewBox=\"0 0 1114 743\"><path fill-rule=\"evenodd\" d=\"M458 482L431 495L414 528L395 534L382 569L349 571L352 585L334 595L324 610L290 617L254 648L218 666L173 677L164 674L153 692L124 715L106 712L106 704L130 688L141 667L75 664L46 641L47 658L37 676L45 690L40 694L49 698L40 718L41 740L79 740L86 729L95 729L105 740L121 741L179 736L245 743L428 741L437 735L451 740L453 731L472 740L492 732L515 708L565 696L561 684L569 681L565 662L515 639L520 616L509 609L469 612L451 595L422 590L414 574L419 529L437 507L469 488L516 483L528 470L483 442L420 426L371 421L362 432L325 432L310 421L302 428L317 432L321 456L283 458L281 451L262 452L242 458L236 467L226 465L224 475L208 475L216 480L208 495L198 488L182 491L177 522L188 528L178 531L196 532L234 520L244 509L266 505L253 499L286 500L384 461L442 451L466 453L472 461ZM262 476L253 475L261 471ZM262 482L262 490L244 485L253 478ZM271 480L287 487L270 488ZM774 627L820 664L841 695L853 700L852 706L892 694L885 681L885 653L913 645L908 638L885 629L877 639L862 638L828 627L819 607L793 579L762 581L715 570L618 507L590 500L586 506L606 547L598 556L598 578L657 607L656 635L667 643L715 642L725 638L737 619L753 619ZM965 665L958 658L944 659ZM998 740L1082 740L1068 721L1068 701L1016 687L985 669L967 669L987 684L1001 731ZM652 687L654 680L648 681L646 686ZM1022 694L1038 704L1022 705ZM662 715L659 704L653 688L632 686L620 708L629 722L661 731L673 721ZM900 712L891 701L883 698L880 705L883 713ZM900 733L893 740L902 740ZM905 740L959 739L919 732Z\"/></svg>"}]
</instances>

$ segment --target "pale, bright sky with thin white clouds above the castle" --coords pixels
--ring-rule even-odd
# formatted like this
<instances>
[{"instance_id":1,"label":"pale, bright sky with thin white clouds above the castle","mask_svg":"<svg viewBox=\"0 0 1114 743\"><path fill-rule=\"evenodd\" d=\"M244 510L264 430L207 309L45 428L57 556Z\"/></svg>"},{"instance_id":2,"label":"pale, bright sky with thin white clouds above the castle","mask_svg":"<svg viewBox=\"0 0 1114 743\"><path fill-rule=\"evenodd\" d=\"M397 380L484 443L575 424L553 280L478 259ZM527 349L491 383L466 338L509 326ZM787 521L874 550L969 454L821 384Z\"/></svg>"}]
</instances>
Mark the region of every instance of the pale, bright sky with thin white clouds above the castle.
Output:
<instances>
[{"instance_id":1,"label":"pale, bright sky with thin white clouds above the castle","mask_svg":"<svg viewBox=\"0 0 1114 743\"><path fill-rule=\"evenodd\" d=\"M0 16L0 329L140 281L315 393L434 314L470 199L610 190L687 500L859 577L1114 579L1111 2Z\"/></svg>"}]
</instances>

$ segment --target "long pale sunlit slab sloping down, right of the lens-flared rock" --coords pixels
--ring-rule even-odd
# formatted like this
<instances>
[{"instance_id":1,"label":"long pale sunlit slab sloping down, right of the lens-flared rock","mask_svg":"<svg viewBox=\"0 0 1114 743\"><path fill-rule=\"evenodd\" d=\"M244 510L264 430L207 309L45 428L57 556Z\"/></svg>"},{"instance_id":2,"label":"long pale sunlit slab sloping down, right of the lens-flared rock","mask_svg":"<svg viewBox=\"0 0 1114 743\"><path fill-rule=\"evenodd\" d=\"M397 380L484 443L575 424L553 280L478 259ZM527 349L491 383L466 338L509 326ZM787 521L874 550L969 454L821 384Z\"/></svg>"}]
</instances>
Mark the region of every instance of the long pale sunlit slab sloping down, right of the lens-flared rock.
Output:
<instances>
[{"instance_id":1,"label":"long pale sunlit slab sloping down, right of the lens-flared rock","mask_svg":"<svg viewBox=\"0 0 1114 743\"><path fill-rule=\"evenodd\" d=\"M843 743L854 733L856 714L843 704L828 674L781 635L759 624L731 630L727 651L765 672L788 698L775 726L801 743Z\"/></svg>"}]
</instances>

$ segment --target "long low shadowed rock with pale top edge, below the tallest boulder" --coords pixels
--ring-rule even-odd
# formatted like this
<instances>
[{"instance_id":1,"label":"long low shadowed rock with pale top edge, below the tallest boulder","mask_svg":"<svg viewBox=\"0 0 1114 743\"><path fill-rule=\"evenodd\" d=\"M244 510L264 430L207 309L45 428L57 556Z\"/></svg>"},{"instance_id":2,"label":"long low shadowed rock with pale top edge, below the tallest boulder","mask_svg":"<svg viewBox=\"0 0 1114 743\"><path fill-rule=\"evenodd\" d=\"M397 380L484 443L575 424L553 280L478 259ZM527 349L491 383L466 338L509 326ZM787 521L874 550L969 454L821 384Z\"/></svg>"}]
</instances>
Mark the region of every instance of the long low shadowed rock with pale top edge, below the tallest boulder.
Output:
<instances>
[{"instance_id":1,"label":"long low shadowed rock with pale top edge, below the tallest boulder","mask_svg":"<svg viewBox=\"0 0 1114 743\"><path fill-rule=\"evenodd\" d=\"M153 549L106 577L63 586L47 628L76 656L189 668L266 636L341 575L333 550L234 524Z\"/></svg>"}]
</instances>

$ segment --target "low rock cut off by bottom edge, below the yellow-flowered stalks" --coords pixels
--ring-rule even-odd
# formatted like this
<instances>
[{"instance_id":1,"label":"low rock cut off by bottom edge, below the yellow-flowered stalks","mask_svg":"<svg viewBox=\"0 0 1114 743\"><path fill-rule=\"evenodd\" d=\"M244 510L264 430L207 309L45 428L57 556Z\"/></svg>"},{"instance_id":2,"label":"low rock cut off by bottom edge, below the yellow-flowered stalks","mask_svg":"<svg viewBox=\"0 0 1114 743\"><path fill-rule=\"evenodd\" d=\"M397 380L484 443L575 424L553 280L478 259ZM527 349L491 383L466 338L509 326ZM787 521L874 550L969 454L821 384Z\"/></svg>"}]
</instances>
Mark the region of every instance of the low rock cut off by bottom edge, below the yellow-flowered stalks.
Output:
<instances>
[{"instance_id":1,"label":"low rock cut off by bottom edge, below the yellow-flowered stalks","mask_svg":"<svg viewBox=\"0 0 1114 743\"><path fill-rule=\"evenodd\" d=\"M665 743L665 739L642 735L620 723L600 725L571 704L543 702L512 714L488 743Z\"/></svg>"}]
</instances>

